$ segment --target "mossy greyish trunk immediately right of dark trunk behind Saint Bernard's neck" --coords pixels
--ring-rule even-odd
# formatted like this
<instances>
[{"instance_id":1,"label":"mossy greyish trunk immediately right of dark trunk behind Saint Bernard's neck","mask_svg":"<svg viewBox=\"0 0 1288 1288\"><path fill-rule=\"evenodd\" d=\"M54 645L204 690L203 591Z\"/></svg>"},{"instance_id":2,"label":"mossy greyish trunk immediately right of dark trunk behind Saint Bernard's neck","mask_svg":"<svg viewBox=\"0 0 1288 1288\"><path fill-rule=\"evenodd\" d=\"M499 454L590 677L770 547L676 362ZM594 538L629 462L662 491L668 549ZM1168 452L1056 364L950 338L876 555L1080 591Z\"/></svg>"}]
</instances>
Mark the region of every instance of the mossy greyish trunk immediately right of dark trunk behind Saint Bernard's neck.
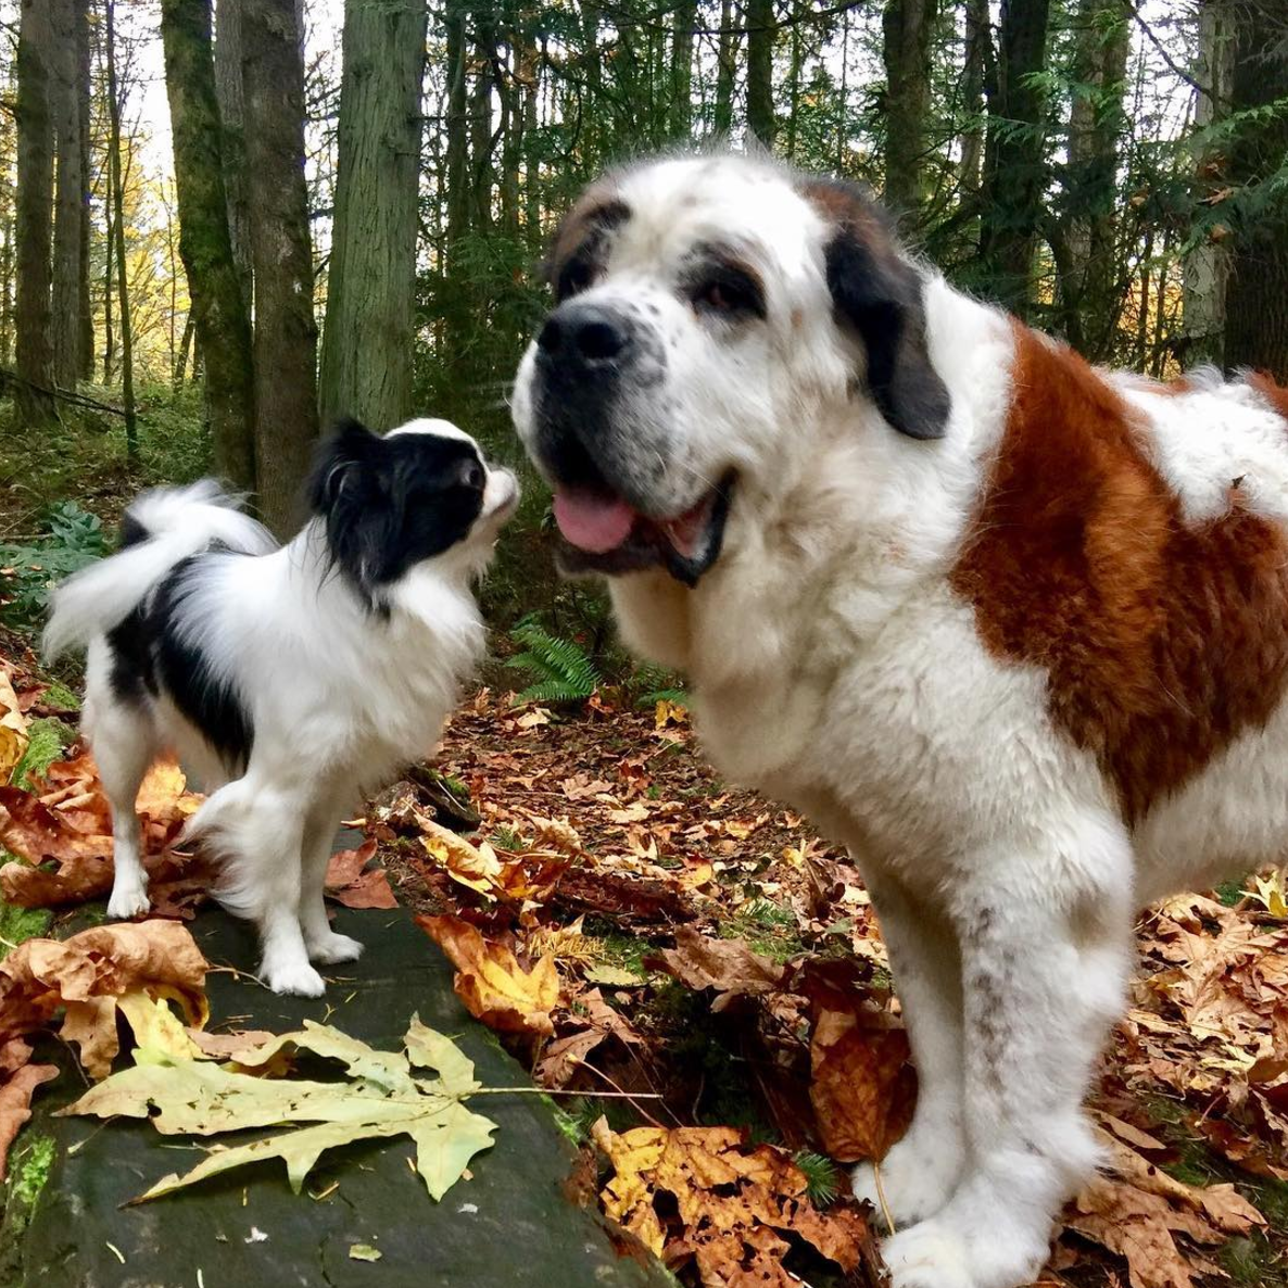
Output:
<instances>
[{"instance_id":1,"label":"mossy greyish trunk immediately right of dark trunk behind Saint Bernard's neck","mask_svg":"<svg viewBox=\"0 0 1288 1288\"><path fill-rule=\"evenodd\" d=\"M1069 272L1061 274L1064 332L1094 362L1112 357L1118 317L1118 143L1123 111L1131 12L1124 0L1081 0L1069 113Z\"/></svg>"}]
</instances>

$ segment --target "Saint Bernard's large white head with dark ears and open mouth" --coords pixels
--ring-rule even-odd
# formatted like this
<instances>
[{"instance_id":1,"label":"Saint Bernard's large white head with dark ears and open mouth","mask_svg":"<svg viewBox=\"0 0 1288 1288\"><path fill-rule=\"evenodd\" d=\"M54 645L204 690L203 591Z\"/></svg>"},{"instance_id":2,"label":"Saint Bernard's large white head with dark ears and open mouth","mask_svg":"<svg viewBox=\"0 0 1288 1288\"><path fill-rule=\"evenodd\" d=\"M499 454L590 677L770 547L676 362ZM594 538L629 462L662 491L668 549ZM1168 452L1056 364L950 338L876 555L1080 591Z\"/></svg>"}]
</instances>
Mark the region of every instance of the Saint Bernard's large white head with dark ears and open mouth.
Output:
<instances>
[{"instance_id":1,"label":"Saint Bernard's large white head with dark ears and open mouth","mask_svg":"<svg viewBox=\"0 0 1288 1288\"><path fill-rule=\"evenodd\" d=\"M734 155L634 165L573 206L549 278L514 421L567 572L696 585L824 426L945 431L922 274L855 185Z\"/></svg>"}]
</instances>

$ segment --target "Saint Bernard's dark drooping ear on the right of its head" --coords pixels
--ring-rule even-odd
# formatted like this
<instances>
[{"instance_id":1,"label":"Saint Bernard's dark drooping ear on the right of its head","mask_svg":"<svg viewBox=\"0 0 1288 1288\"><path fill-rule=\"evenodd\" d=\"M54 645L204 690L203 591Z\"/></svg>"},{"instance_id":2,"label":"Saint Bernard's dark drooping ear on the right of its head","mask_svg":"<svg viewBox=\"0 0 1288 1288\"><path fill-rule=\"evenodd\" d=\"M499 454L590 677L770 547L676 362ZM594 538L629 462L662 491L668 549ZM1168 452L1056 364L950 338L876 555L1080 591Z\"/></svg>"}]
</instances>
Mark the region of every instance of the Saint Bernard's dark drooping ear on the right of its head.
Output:
<instances>
[{"instance_id":1,"label":"Saint Bernard's dark drooping ear on the right of its head","mask_svg":"<svg viewBox=\"0 0 1288 1288\"><path fill-rule=\"evenodd\" d=\"M899 256L866 189L813 179L802 191L831 225L824 265L832 312L863 341L872 399L900 434L943 438L952 399L926 348L921 276Z\"/></svg>"}]
</instances>

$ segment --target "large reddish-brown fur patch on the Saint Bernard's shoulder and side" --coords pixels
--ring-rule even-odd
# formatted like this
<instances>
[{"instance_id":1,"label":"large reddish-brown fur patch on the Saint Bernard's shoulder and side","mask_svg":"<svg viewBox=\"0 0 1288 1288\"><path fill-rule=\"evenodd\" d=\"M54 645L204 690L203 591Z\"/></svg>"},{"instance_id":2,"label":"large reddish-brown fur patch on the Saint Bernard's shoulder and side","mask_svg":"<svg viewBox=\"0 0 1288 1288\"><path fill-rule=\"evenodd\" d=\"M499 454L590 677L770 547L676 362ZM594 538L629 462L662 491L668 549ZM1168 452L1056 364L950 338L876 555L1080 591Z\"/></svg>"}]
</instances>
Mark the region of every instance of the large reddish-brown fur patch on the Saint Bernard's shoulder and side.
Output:
<instances>
[{"instance_id":1,"label":"large reddish-brown fur patch on the Saint Bernard's shoulder and side","mask_svg":"<svg viewBox=\"0 0 1288 1288\"><path fill-rule=\"evenodd\" d=\"M1052 719L1133 822L1278 706L1288 536L1235 479L1224 515L1186 524L1118 394L1015 335L1006 430L952 583L990 652L1046 670Z\"/></svg>"}]
</instances>

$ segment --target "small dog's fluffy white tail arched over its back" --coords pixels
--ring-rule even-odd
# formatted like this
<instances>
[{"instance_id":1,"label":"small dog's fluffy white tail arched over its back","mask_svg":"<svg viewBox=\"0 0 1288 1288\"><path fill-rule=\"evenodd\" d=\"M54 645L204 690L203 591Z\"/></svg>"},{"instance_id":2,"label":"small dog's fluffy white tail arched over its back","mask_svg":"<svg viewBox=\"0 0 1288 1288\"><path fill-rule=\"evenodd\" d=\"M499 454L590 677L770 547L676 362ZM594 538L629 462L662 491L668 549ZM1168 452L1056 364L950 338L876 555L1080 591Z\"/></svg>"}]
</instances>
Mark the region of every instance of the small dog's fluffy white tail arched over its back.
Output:
<instances>
[{"instance_id":1,"label":"small dog's fluffy white tail arched over its back","mask_svg":"<svg viewBox=\"0 0 1288 1288\"><path fill-rule=\"evenodd\" d=\"M125 511L121 550L67 578L53 595L44 652L58 657L118 626L175 564L219 544L259 555L272 533L214 479L144 492Z\"/></svg>"}]
</instances>

